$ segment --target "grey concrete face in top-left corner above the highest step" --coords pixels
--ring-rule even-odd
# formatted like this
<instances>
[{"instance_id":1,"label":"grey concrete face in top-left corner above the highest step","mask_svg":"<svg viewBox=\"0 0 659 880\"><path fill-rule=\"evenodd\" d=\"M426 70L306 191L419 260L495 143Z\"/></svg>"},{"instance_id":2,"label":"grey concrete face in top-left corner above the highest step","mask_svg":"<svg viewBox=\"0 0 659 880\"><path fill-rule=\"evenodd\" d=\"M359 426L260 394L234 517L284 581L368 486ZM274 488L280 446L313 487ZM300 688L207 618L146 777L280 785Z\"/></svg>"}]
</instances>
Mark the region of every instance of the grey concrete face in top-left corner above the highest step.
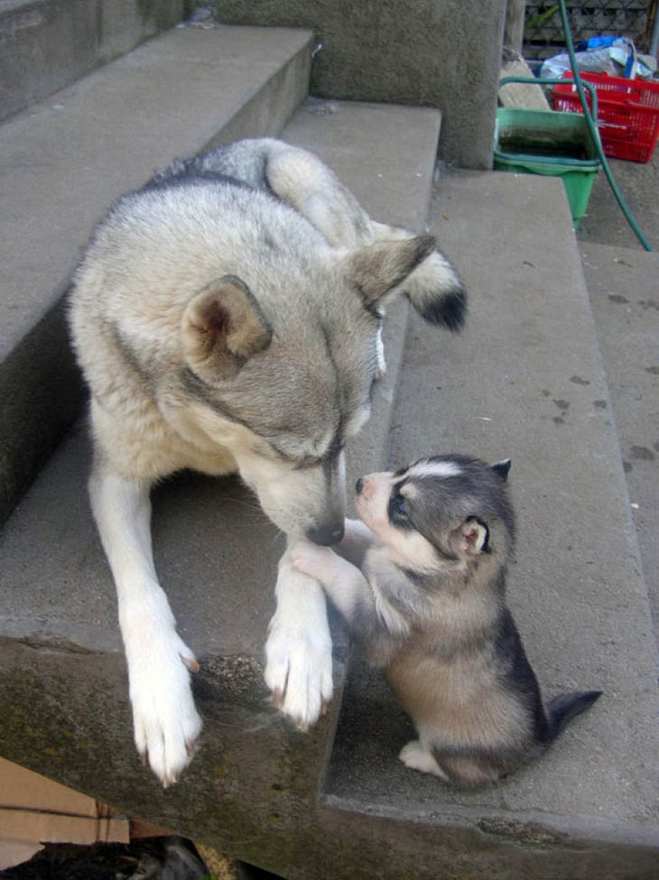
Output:
<instances>
[{"instance_id":1,"label":"grey concrete face in top-left corner above the highest step","mask_svg":"<svg viewBox=\"0 0 659 880\"><path fill-rule=\"evenodd\" d=\"M0 3L0 119L178 22L191 0Z\"/></svg>"}]
</instances>

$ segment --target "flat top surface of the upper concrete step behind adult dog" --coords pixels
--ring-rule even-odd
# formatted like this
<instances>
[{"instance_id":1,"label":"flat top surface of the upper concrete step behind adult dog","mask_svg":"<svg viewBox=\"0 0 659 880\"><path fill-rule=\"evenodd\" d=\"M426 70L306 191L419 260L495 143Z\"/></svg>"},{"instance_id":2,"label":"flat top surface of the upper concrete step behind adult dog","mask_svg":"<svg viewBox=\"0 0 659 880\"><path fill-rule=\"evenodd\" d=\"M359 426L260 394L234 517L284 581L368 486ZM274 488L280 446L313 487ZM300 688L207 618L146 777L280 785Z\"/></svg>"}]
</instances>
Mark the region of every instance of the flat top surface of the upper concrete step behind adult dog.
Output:
<instances>
[{"instance_id":1,"label":"flat top surface of the upper concrete step behind adult dog","mask_svg":"<svg viewBox=\"0 0 659 880\"><path fill-rule=\"evenodd\" d=\"M0 265L3 289L14 292L0 352L41 317L44 286L67 276L110 201L215 139L310 40L283 29L176 28L0 127L12 232L1 239ZM264 134L281 130L305 94L302 81L280 96L278 129Z\"/></svg>"}]
</instances>

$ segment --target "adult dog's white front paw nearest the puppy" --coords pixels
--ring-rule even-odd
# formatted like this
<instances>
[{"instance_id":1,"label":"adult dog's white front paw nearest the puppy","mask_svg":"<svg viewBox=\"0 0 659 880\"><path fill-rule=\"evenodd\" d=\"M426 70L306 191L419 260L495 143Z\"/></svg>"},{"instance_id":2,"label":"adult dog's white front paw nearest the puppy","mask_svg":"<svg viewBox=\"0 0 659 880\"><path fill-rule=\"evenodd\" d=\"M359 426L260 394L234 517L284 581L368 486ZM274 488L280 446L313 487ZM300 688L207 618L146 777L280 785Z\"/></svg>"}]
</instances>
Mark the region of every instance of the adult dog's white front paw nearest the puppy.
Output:
<instances>
[{"instance_id":1,"label":"adult dog's white front paw nearest the puppy","mask_svg":"<svg viewBox=\"0 0 659 880\"><path fill-rule=\"evenodd\" d=\"M273 705L300 730L324 715L332 697L332 644L324 627L300 625L275 613L265 644L265 683Z\"/></svg>"}]
</instances>

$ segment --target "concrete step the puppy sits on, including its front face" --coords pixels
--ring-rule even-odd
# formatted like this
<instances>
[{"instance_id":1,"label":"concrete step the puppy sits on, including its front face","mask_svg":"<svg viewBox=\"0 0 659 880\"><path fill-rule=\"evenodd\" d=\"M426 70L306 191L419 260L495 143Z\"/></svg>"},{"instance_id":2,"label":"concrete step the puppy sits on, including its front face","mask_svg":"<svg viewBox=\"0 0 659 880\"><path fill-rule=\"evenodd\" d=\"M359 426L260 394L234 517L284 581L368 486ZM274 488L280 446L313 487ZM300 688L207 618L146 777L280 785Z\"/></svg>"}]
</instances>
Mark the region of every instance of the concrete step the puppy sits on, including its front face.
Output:
<instances>
[{"instance_id":1,"label":"concrete step the puppy sits on, including its front face","mask_svg":"<svg viewBox=\"0 0 659 880\"><path fill-rule=\"evenodd\" d=\"M441 344L412 316L389 462L450 450L512 458L508 595L527 653L545 694L604 696L541 761L458 794L397 760L411 724L380 673L357 662L322 790L324 827L343 858L361 853L356 878L649 880L659 864L656 646L562 184L456 172L432 219L471 313L462 337ZM640 295L625 295L643 310ZM637 369L647 365L640 357ZM645 427L633 436L651 448L656 432Z\"/></svg>"}]
</instances>

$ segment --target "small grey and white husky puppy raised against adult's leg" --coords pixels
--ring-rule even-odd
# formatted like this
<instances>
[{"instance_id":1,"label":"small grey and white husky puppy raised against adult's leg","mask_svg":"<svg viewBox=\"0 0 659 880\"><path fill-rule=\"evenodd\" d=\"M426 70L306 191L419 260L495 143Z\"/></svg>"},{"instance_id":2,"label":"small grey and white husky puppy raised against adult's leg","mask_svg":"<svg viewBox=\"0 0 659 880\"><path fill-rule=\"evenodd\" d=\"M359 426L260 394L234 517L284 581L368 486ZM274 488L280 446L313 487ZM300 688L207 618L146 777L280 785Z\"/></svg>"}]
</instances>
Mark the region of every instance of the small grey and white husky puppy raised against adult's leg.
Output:
<instances>
[{"instance_id":1,"label":"small grey and white husky puppy raised against adult's leg","mask_svg":"<svg viewBox=\"0 0 659 880\"><path fill-rule=\"evenodd\" d=\"M601 691L543 707L506 607L515 541L510 460L421 459L357 480L357 513L337 548L298 542L295 567L320 580L371 662L384 666L419 738L404 764L469 788L542 754ZM342 558L345 557L345 558Z\"/></svg>"}]
</instances>

